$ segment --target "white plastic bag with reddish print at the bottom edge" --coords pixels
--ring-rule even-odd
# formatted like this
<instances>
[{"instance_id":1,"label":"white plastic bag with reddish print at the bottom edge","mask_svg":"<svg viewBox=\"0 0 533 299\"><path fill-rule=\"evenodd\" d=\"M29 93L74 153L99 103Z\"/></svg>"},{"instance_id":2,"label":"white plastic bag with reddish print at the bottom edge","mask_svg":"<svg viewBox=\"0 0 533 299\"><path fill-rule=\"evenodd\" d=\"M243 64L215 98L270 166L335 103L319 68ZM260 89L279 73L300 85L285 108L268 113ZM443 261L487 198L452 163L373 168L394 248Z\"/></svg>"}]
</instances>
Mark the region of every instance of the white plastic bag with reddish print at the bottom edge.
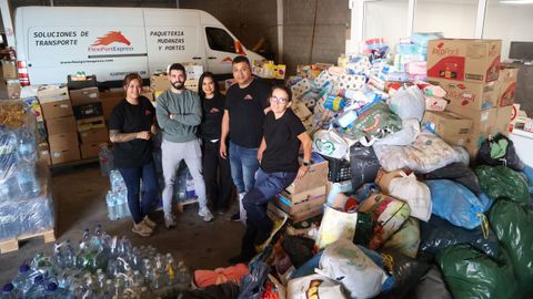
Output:
<instances>
[{"instance_id":1,"label":"white plastic bag with reddish print at the bottom edge","mask_svg":"<svg viewBox=\"0 0 533 299\"><path fill-rule=\"evenodd\" d=\"M346 299L342 286L328 277L310 275L292 279L286 287L286 299Z\"/></svg>"}]
</instances>

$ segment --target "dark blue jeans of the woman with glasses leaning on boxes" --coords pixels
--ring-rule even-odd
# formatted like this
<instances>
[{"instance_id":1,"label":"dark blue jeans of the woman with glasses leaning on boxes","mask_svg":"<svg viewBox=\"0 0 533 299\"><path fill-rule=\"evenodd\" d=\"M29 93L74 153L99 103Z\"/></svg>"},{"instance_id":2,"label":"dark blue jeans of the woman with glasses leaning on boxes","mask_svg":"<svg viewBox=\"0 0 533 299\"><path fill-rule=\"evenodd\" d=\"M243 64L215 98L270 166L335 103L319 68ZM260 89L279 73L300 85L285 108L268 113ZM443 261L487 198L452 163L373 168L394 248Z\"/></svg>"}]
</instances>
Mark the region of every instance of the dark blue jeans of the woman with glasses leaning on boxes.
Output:
<instances>
[{"instance_id":1,"label":"dark blue jeans of the woman with glasses leaning on boxes","mask_svg":"<svg viewBox=\"0 0 533 299\"><path fill-rule=\"evenodd\" d=\"M272 230L272 220L266 215L269 200L292 184L298 173L258 172L253 188L244 195L242 204L247 210L247 231L242 237L241 255L250 258L255 255L254 245L264 243Z\"/></svg>"}]
</instances>

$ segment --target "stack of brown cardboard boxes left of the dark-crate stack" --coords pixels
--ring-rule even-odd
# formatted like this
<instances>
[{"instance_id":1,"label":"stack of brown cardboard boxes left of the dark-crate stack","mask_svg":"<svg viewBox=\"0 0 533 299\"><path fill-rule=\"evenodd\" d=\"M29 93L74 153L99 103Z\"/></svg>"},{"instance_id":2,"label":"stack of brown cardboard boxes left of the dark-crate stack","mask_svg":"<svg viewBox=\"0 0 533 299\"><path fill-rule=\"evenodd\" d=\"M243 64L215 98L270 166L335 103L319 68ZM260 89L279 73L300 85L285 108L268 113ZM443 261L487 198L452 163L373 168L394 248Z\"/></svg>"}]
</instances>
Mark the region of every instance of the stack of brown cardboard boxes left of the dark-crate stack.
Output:
<instances>
[{"instance_id":1,"label":"stack of brown cardboard boxes left of the dark-crate stack","mask_svg":"<svg viewBox=\"0 0 533 299\"><path fill-rule=\"evenodd\" d=\"M52 164L80 159L78 132L67 86L48 86L37 92L48 131Z\"/></svg>"}]
</instances>

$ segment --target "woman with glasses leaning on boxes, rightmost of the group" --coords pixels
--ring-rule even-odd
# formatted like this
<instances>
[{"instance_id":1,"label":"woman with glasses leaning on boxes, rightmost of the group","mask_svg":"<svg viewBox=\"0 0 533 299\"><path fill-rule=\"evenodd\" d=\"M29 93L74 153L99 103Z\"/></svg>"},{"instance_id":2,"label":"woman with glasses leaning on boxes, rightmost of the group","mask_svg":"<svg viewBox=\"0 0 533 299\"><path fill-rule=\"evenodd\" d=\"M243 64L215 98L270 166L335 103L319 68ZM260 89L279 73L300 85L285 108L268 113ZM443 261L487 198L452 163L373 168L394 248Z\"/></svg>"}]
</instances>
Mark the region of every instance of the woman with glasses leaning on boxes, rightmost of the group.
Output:
<instances>
[{"instance_id":1,"label":"woman with glasses leaning on boxes, rightmost of the group","mask_svg":"<svg viewBox=\"0 0 533 299\"><path fill-rule=\"evenodd\" d=\"M302 122L288 109L292 93L285 86L274 86L270 96L270 111L264 116L263 140L258 151L260 168L255 185L243 198L247 210L247 231L242 238L241 254L230 261L247 262L257 252L255 246L264 243L272 230L272 220L266 216L266 205L294 179L309 171L311 138ZM298 153L303 145L303 163Z\"/></svg>"}]
</instances>

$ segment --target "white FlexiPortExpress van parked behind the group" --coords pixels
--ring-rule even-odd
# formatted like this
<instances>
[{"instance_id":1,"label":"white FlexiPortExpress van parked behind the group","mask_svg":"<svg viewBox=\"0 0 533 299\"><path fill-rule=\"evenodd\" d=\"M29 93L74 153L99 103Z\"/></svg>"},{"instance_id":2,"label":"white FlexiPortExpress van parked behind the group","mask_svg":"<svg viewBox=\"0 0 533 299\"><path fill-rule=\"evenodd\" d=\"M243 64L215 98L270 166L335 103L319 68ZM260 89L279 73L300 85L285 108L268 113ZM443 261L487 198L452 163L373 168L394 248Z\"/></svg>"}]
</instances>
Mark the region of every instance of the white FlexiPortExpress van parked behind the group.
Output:
<instances>
[{"instance_id":1,"label":"white FlexiPortExpress van parked behind the group","mask_svg":"<svg viewBox=\"0 0 533 299\"><path fill-rule=\"evenodd\" d=\"M194 62L230 74L247 50L213 16L201 10L21 7L14 13L21 84L66 82L79 71L99 82L137 72L149 78L173 62Z\"/></svg>"}]
</instances>

